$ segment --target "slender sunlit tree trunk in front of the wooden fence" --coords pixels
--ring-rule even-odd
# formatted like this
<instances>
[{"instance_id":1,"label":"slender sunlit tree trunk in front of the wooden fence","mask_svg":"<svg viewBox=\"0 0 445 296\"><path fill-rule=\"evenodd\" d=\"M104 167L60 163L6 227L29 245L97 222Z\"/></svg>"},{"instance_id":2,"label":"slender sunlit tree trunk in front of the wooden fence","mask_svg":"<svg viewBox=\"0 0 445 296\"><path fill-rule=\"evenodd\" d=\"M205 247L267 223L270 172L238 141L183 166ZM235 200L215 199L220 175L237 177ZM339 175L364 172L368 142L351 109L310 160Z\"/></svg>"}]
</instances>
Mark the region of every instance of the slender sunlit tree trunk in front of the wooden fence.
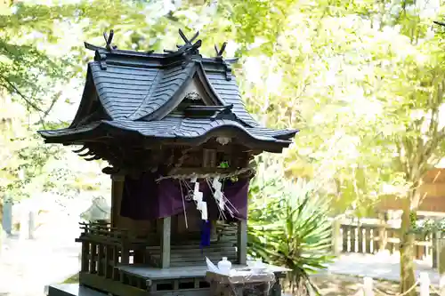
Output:
<instances>
[{"instance_id":1,"label":"slender sunlit tree trunk in front of the wooden fence","mask_svg":"<svg viewBox=\"0 0 445 296\"><path fill-rule=\"evenodd\" d=\"M416 283L414 266L414 239L415 236L409 233L411 229L411 215L416 212L412 207L411 196L404 198L403 214L401 216L401 293L409 291ZM407 296L417 296L416 289L406 294Z\"/></svg>"}]
</instances>

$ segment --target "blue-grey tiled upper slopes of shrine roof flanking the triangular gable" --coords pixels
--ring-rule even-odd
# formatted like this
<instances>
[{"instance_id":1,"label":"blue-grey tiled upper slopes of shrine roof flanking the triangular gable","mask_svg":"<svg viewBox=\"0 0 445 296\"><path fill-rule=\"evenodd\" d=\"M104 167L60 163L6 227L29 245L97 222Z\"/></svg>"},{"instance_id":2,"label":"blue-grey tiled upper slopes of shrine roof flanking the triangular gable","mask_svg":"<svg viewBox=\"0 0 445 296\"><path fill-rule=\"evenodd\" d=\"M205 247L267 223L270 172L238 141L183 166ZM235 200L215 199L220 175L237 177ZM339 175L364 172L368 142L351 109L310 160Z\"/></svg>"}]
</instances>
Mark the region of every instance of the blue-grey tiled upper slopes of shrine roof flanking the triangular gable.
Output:
<instances>
[{"instance_id":1,"label":"blue-grey tiled upper slopes of shrine roof flanking the triangular gable","mask_svg":"<svg viewBox=\"0 0 445 296\"><path fill-rule=\"evenodd\" d=\"M164 106L194 71L202 66L190 62L185 68L179 65L163 69L109 63L106 69L102 69L100 62L92 62L89 67L101 103L109 116L113 119L126 117L138 120ZM227 80L222 72L206 71L205 66L202 68L208 83L223 104L233 104L233 113L243 123L257 126L244 106L235 80Z\"/></svg>"}]
</instances>

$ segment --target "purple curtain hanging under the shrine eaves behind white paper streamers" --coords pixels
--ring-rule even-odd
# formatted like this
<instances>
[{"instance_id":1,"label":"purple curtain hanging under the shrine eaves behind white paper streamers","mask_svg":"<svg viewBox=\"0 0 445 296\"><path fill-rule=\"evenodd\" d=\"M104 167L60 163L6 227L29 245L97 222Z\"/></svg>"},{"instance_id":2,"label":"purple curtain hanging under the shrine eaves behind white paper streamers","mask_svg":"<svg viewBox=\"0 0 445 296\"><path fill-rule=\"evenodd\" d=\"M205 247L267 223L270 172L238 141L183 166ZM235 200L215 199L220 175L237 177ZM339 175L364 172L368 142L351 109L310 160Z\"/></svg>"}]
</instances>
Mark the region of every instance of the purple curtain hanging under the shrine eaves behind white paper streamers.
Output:
<instances>
[{"instance_id":1,"label":"purple curtain hanging under the shrine eaves behind white paper streamers","mask_svg":"<svg viewBox=\"0 0 445 296\"><path fill-rule=\"evenodd\" d=\"M184 197L188 189L179 180L165 179L159 182L157 173L146 172L138 179L125 177L124 192L122 196L120 214L134 220L156 220L158 218L174 216L183 212L182 194ZM203 199L207 203L209 220L220 218L218 205L214 201L211 189L205 180L200 180L199 190L203 192ZM247 219L248 179L239 179L236 182L224 180L223 193L227 197L233 216L224 212L227 220ZM189 184L191 188L191 185ZM193 201L185 201L185 208L195 207ZM235 210L236 209L236 210Z\"/></svg>"}]
</instances>

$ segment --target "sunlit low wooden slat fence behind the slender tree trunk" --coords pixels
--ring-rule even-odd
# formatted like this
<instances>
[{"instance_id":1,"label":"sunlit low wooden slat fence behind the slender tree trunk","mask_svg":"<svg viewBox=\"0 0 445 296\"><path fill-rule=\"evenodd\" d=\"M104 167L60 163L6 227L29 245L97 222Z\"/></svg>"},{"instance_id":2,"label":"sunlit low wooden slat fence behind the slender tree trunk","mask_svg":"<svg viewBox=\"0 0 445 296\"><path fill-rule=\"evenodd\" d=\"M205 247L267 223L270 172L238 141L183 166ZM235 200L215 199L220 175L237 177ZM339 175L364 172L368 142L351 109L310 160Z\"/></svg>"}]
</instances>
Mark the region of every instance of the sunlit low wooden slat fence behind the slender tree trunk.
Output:
<instances>
[{"instance_id":1,"label":"sunlit low wooden slat fence behind the slender tree trunk","mask_svg":"<svg viewBox=\"0 0 445 296\"><path fill-rule=\"evenodd\" d=\"M387 250L394 253L400 248L401 229L391 225L339 223L334 228L337 228L333 237L337 252L373 254ZM415 245L417 260L433 258L431 235L418 234Z\"/></svg>"}]
</instances>

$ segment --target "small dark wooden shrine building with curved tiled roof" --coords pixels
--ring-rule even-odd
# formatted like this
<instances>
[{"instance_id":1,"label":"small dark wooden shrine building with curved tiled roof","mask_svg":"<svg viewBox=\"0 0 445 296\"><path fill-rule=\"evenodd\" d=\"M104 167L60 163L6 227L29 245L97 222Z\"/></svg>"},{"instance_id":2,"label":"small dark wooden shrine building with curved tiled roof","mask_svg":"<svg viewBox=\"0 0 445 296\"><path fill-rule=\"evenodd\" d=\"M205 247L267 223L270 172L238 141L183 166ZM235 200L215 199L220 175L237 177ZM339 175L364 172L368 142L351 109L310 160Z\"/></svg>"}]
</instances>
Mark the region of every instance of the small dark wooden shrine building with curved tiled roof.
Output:
<instances>
[{"instance_id":1,"label":"small dark wooden shrine building with curved tiled roof","mask_svg":"<svg viewBox=\"0 0 445 296\"><path fill-rule=\"evenodd\" d=\"M112 31L104 47L85 44L95 55L77 115L67 128L39 132L109 163L110 223L83 223L77 238L81 286L118 296L209 295L205 258L247 263L252 161L280 153L297 131L261 126L247 112L225 44L205 58L198 34L180 35L184 44L164 53L119 50ZM277 282L271 295L280 294Z\"/></svg>"}]
</instances>

